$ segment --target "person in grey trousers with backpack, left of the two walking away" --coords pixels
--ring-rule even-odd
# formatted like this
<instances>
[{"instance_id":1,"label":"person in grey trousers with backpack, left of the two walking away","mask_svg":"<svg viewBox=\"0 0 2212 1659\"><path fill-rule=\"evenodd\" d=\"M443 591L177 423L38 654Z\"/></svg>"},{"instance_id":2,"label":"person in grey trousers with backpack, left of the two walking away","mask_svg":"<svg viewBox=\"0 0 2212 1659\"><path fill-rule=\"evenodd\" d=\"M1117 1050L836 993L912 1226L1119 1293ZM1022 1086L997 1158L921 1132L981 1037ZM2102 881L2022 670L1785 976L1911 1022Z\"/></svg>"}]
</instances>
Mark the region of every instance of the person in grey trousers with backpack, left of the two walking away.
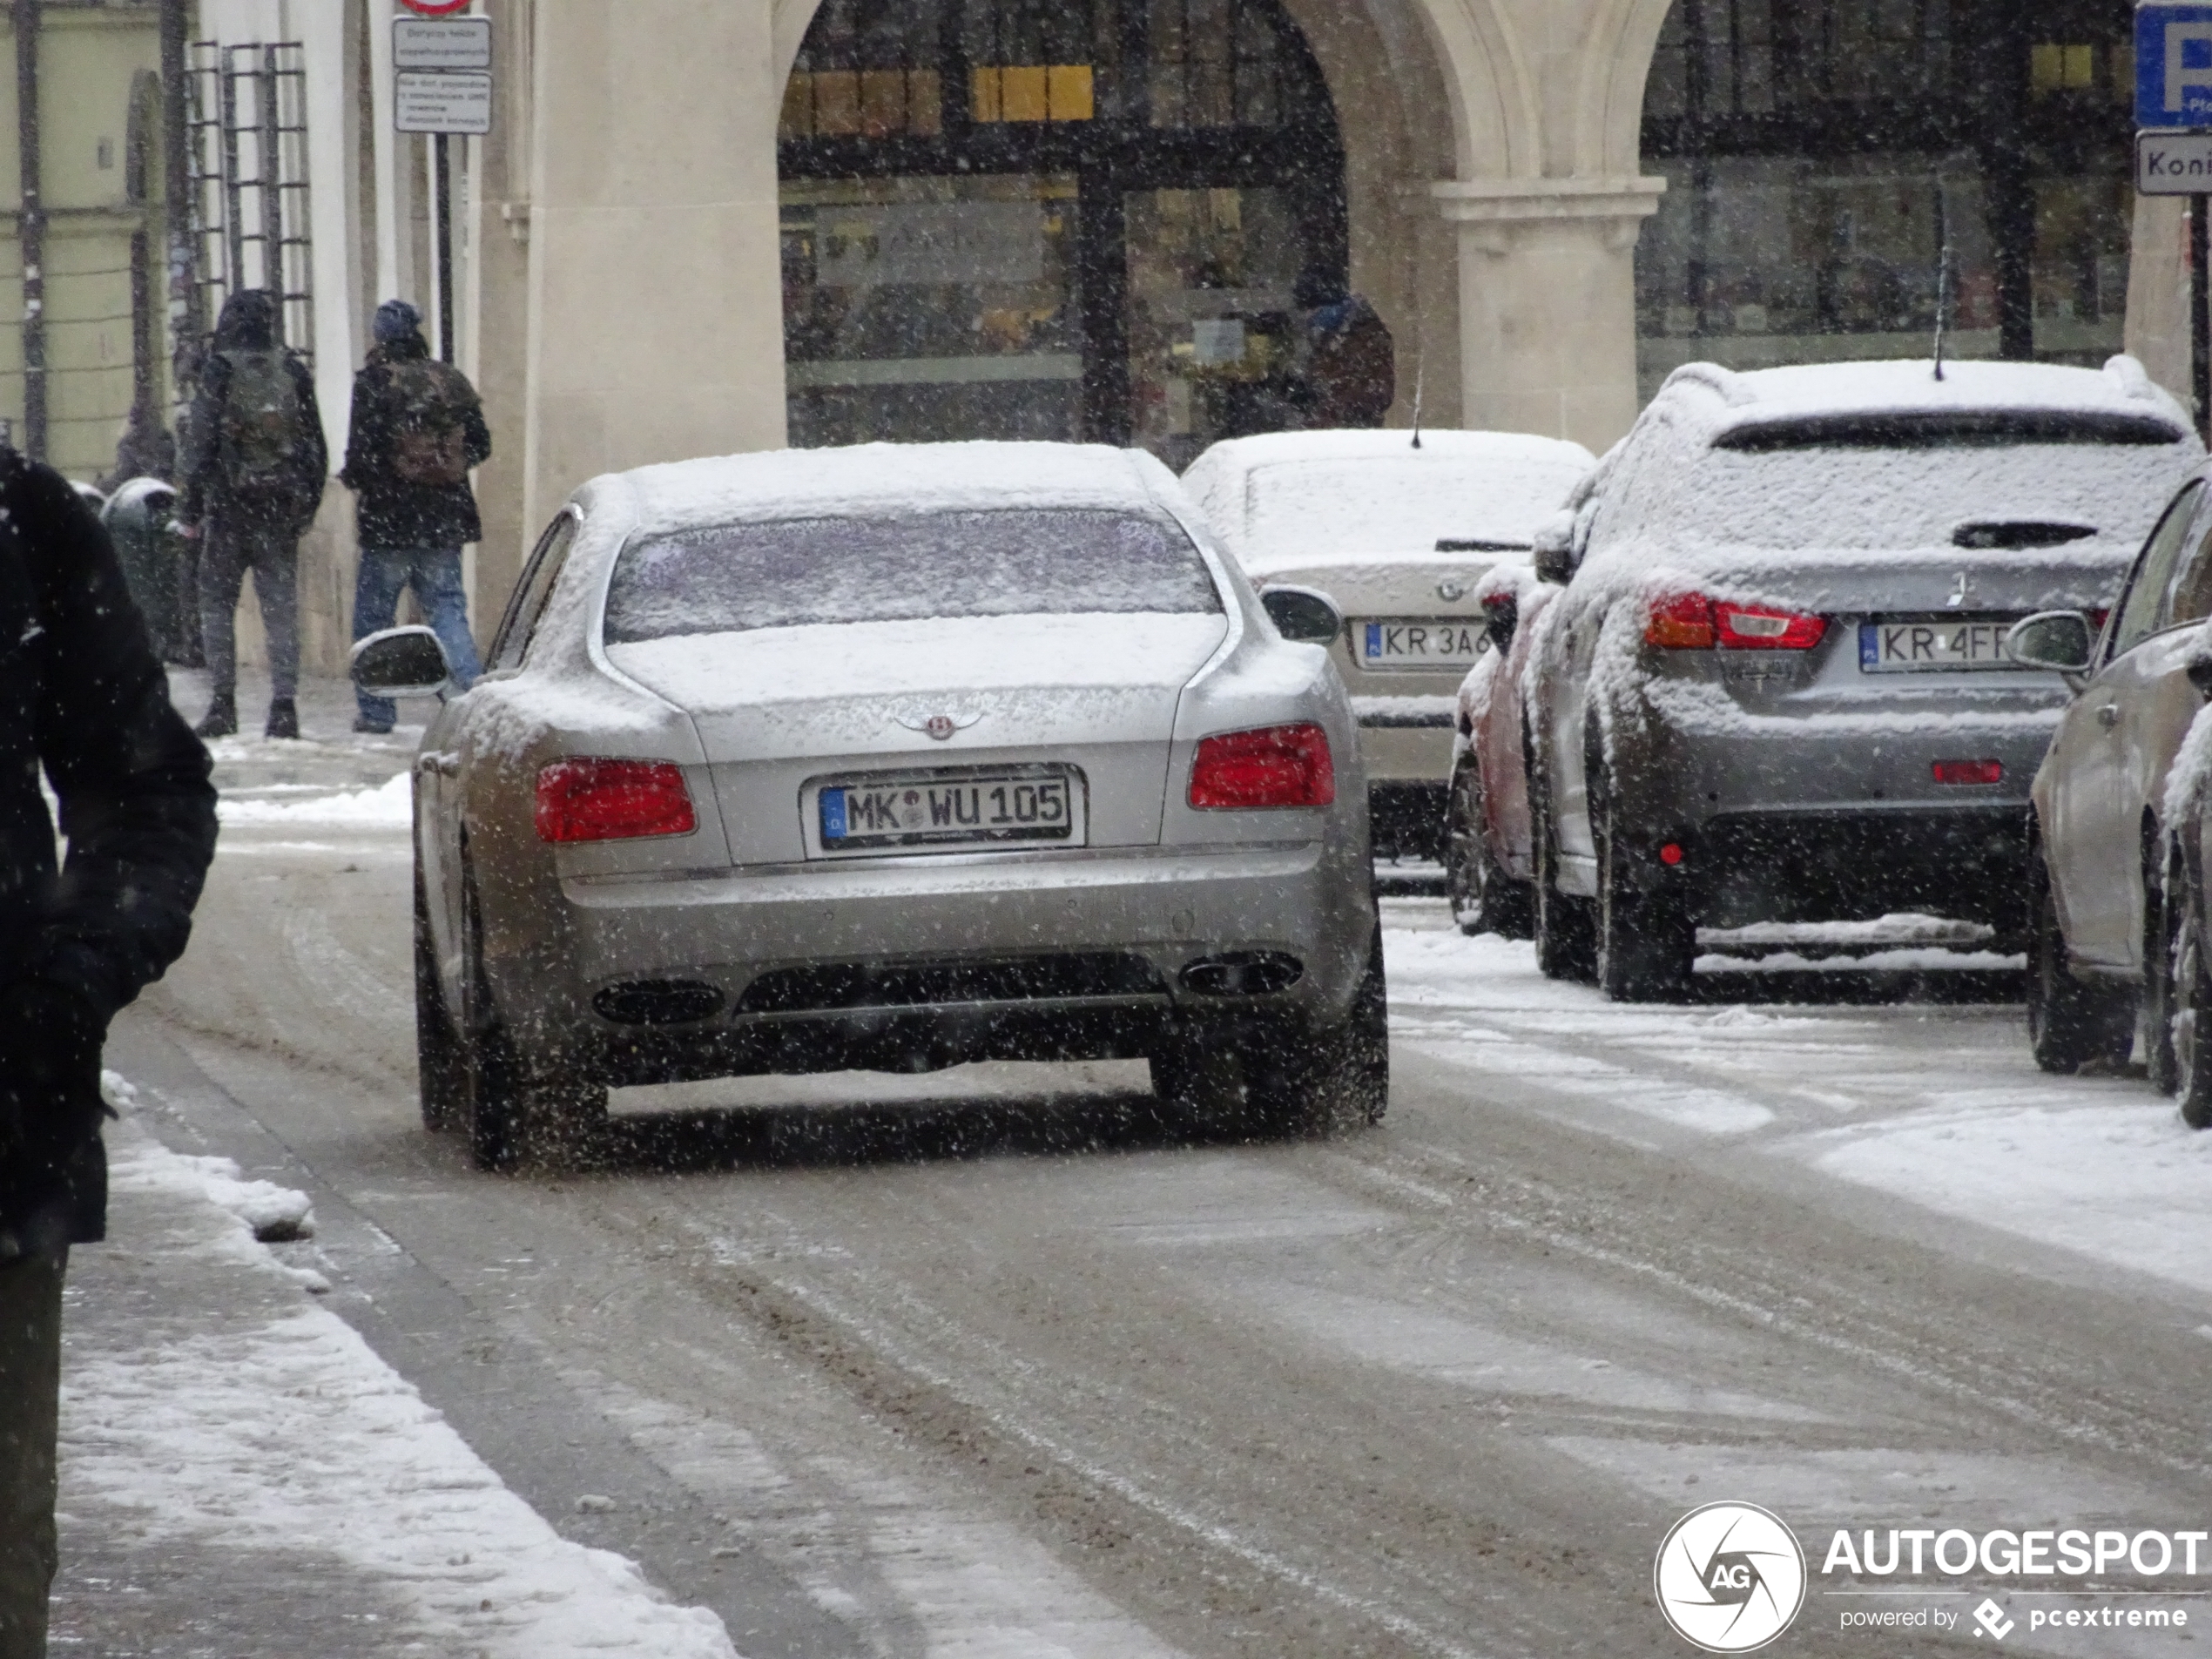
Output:
<instances>
[{"instance_id":1,"label":"person in grey trousers with backpack, left of the two walking away","mask_svg":"<svg viewBox=\"0 0 2212 1659\"><path fill-rule=\"evenodd\" d=\"M299 538L323 502L330 447L314 376L276 338L276 296L223 301L184 434L177 518L199 553L199 639L212 697L199 737L239 730L239 586L270 639L270 737L299 737Z\"/></svg>"}]
</instances>

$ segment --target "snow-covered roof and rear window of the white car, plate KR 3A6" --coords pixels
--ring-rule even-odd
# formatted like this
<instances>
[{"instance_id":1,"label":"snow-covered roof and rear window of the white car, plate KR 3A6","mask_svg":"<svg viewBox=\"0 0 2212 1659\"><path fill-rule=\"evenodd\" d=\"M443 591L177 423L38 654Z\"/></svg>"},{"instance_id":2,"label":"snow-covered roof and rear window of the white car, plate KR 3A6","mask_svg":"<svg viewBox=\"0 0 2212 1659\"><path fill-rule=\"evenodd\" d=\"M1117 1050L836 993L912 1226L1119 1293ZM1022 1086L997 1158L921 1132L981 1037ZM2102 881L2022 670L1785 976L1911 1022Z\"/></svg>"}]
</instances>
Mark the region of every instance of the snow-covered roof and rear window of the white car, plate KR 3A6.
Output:
<instances>
[{"instance_id":1,"label":"snow-covered roof and rear window of the white car, plate KR 3A6","mask_svg":"<svg viewBox=\"0 0 2212 1659\"><path fill-rule=\"evenodd\" d=\"M1528 546L1593 465L1522 431L1279 431L1230 438L1183 473L1248 568L1312 557L1433 553L1438 542Z\"/></svg>"}]
</instances>

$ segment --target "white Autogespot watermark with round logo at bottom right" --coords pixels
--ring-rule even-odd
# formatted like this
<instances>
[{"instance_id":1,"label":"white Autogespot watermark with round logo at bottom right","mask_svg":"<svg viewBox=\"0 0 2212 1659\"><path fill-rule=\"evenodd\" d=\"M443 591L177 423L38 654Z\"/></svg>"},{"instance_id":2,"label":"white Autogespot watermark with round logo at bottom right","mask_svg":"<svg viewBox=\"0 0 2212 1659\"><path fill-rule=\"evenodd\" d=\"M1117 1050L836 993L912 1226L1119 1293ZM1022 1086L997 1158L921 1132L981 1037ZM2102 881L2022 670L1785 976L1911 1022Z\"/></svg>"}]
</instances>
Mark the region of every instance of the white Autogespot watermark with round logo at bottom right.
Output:
<instances>
[{"instance_id":1,"label":"white Autogespot watermark with round logo at bottom right","mask_svg":"<svg viewBox=\"0 0 2212 1659\"><path fill-rule=\"evenodd\" d=\"M2212 1624L2212 1531L2099 1526L1838 1528L1820 1571L1790 1526L1756 1504L1692 1509L1659 1544L1652 1584L1674 1632L1703 1652L1752 1652L1818 1595L1851 1635L2181 1632ZM2002 1597L2002 1599L2000 1599ZM1823 1619L1825 1624L1825 1619Z\"/></svg>"}]
</instances>

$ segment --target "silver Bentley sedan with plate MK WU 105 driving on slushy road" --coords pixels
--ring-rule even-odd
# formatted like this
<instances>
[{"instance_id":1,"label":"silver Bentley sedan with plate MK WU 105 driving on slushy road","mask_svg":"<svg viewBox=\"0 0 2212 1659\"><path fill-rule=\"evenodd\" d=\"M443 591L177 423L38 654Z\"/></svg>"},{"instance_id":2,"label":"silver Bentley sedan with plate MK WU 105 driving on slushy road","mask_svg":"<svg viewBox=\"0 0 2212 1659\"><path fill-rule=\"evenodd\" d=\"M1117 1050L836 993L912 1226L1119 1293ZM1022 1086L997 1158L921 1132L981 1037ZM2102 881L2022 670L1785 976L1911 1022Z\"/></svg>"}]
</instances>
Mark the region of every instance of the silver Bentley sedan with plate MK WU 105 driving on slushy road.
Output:
<instances>
[{"instance_id":1,"label":"silver Bentley sedan with plate MK WU 105 driving on slushy road","mask_svg":"<svg viewBox=\"0 0 2212 1659\"><path fill-rule=\"evenodd\" d=\"M498 1168L586 1152L608 1086L1099 1057L1210 1133L1374 1121L1338 628L1141 453L593 480L422 739L425 1121ZM447 690L425 628L354 677Z\"/></svg>"}]
</instances>

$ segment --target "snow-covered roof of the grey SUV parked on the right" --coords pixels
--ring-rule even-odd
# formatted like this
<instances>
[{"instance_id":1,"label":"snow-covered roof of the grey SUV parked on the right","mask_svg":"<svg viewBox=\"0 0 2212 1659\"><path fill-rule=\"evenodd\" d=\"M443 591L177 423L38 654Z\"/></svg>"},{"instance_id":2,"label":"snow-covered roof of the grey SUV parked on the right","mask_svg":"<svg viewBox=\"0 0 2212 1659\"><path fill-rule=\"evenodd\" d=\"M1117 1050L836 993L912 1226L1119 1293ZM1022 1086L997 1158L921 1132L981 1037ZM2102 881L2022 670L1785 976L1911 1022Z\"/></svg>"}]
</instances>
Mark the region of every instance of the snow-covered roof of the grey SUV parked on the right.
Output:
<instances>
[{"instance_id":1,"label":"snow-covered roof of the grey SUV parked on the right","mask_svg":"<svg viewBox=\"0 0 2212 1659\"><path fill-rule=\"evenodd\" d=\"M1759 436L1812 440L1823 429L1909 429L1953 425L1960 416L2059 418L2108 427L2112 438L2177 442L2190 420L2132 356L2101 369L2057 363L1947 363L1942 380L1929 358L1900 363L1807 363L1785 369L1723 369L1688 363L1659 396L1701 409L1708 440L1756 442ZM2132 434L2130 434L2132 429Z\"/></svg>"}]
</instances>

